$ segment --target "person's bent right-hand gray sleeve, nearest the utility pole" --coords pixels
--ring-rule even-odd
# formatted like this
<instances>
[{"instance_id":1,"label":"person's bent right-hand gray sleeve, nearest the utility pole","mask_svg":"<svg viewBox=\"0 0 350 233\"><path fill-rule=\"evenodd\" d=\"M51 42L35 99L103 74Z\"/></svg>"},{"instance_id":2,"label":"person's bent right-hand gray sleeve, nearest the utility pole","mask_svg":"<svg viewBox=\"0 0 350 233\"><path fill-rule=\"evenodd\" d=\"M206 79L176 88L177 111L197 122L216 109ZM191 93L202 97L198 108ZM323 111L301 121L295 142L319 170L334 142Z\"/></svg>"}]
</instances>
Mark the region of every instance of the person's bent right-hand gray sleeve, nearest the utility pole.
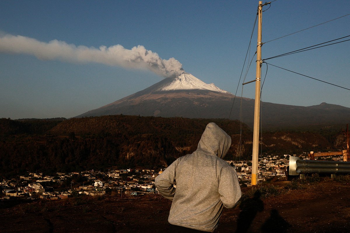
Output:
<instances>
[{"instance_id":1,"label":"person's bent right-hand gray sleeve, nearest the utility pole","mask_svg":"<svg viewBox=\"0 0 350 233\"><path fill-rule=\"evenodd\" d=\"M242 196L238 183L237 172L233 167L225 167L221 171L219 180L220 199L226 208L233 208L237 205Z\"/></svg>"}]
</instances>

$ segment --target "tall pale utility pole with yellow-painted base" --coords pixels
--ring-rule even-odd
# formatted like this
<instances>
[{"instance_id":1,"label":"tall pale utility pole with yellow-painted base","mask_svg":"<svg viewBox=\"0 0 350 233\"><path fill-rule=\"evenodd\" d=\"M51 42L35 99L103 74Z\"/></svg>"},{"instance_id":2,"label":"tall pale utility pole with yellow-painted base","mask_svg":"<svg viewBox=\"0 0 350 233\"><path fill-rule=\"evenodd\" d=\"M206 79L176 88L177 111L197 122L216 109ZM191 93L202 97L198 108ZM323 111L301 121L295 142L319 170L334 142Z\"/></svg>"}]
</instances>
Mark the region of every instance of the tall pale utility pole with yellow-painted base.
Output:
<instances>
[{"instance_id":1,"label":"tall pale utility pole with yellow-painted base","mask_svg":"<svg viewBox=\"0 0 350 233\"><path fill-rule=\"evenodd\" d=\"M258 44L257 44L257 73L255 78L255 105L254 105L254 131L253 131L253 158L252 158L252 185L258 184L259 160L259 125L260 125L260 80L261 80L261 27L262 27L262 1L258 6Z\"/></svg>"}]
</instances>

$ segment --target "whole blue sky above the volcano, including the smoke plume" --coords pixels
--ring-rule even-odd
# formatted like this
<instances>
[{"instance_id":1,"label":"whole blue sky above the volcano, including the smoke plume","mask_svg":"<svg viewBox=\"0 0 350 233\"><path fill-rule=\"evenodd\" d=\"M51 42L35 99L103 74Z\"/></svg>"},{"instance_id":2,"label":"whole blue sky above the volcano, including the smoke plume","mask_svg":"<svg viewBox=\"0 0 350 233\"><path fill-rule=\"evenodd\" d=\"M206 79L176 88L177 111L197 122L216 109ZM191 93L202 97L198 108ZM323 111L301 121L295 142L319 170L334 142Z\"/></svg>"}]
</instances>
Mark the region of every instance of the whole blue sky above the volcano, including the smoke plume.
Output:
<instances>
[{"instance_id":1,"label":"whole blue sky above the volcano, including the smoke plume","mask_svg":"<svg viewBox=\"0 0 350 233\"><path fill-rule=\"evenodd\" d=\"M238 86L241 96L257 7L255 0L0 1L0 117L77 116L145 89L181 65L233 94ZM262 41L349 13L348 0L276 0L262 13ZM345 16L264 44L262 59L348 35ZM250 59L256 45L257 29ZM350 89L349 45L267 62ZM262 79L265 73L263 64ZM253 79L255 58L245 81ZM254 99L254 89L254 83L245 85L243 96ZM350 107L350 90L269 65L261 100Z\"/></svg>"}]
</instances>

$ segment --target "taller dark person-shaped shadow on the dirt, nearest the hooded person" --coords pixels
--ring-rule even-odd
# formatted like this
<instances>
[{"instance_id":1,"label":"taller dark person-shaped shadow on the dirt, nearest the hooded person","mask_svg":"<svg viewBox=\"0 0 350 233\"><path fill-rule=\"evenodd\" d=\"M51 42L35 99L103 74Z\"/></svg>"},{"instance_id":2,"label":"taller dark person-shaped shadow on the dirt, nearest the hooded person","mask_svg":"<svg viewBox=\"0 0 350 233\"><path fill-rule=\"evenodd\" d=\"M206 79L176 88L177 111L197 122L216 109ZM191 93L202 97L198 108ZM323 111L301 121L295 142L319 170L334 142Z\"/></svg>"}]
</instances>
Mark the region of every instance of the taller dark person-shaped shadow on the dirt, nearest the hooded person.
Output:
<instances>
[{"instance_id":1,"label":"taller dark person-shaped shadow on the dirt, nearest the hooded person","mask_svg":"<svg viewBox=\"0 0 350 233\"><path fill-rule=\"evenodd\" d=\"M258 211L264 210L264 202L260 199L261 193L255 191L253 198L244 199L239 208L241 209L237 219L237 233L247 232Z\"/></svg>"}]
</instances>

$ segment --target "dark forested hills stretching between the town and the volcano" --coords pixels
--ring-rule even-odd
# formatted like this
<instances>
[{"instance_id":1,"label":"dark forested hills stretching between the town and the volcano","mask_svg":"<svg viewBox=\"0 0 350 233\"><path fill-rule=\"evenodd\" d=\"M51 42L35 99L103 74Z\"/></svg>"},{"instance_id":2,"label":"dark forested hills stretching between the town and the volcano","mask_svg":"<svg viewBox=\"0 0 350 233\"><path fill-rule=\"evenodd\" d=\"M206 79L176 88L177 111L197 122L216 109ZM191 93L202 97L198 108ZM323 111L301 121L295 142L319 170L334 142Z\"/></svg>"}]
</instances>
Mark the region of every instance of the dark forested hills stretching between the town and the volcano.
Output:
<instances>
[{"instance_id":1,"label":"dark forested hills stretching between the town and the volcano","mask_svg":"<svg viewBox=\"0 0 350 233\"><path fill-rule=\"evenodd\" d=\"M232 138L226 159L251 156L252 132L227 119L101 116L55 121L0 119L0 175L26 171L48 174L110 167L166 167L191 153L209 122ZM264 132L262 151L301 153L340 148L336 135ZM242 152L238 150L242 145Z\"/></svg>"}]
</instances>

